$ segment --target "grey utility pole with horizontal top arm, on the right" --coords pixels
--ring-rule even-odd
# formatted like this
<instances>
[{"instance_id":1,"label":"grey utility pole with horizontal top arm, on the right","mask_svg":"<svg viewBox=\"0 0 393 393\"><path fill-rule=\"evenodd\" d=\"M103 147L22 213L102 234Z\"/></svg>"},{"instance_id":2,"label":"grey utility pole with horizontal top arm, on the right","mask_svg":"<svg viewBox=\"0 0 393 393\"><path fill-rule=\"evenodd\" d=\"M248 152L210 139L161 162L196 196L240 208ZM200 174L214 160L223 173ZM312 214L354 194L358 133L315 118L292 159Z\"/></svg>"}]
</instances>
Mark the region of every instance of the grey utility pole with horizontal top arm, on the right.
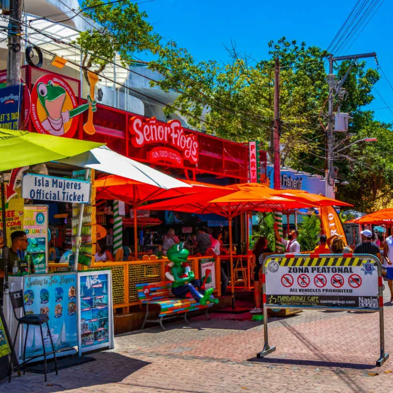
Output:
<instances>
[{"instance_id":1,"label":"grey utility pole with horizontal top arm, on the right","mask_svg":"<svg viewBox=\"0 0 393 393\"><path fill-rule=\"evenodd\" d=\"M342 80L337 83L336 75L333 74L333 62L334 61L342 61L342 60L356 60L358 58L365 57L375 57L377 56L375 52L372 53L363 53L359 55L349 55L349 56L337 56L333 57L330 55L329 57L329 74L327 75L327 82L329 85L329 98L328 98L328 117L327 117L327 129L326 129L326 168L325 168L325 196L328 198L334 198L334 185L335 185L335 176L333 171L333 160L334 160L334 113L333 106L334 100L337 95L340 93L342 85L344 84L349 71L352 68L352 65L348 68L346 74L342 78Z\"/></svg>"}]
</instances>

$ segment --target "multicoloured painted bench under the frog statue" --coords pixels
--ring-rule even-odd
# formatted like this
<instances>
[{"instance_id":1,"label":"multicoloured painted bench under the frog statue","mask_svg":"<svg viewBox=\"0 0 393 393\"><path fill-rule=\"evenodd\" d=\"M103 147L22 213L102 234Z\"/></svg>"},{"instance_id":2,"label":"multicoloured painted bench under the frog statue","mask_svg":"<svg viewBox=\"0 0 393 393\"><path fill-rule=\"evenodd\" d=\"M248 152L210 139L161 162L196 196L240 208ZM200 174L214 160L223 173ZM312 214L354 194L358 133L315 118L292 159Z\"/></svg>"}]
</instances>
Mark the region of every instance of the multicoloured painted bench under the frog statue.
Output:
<instances>
[{"instance_id":1,"label":"multicoloured painted bench under the frog statue","mask_svg":"<svg viewBox=\"0 0 393 393\"><path fill-rule=\"evenodd\" d=\"M213 303L209 302L206 306L202 306L200 303L193 298L179 299L174 297L171 292L172 283L170 281L160 282L146 282L143 284L137 284L138 297L142 304L146 305L146 315L142 324L142 329L146 322L158 322L163 330L163 319L172 319L176 317L176 314L184 313L184 320L187 320L187 313L190 311L196 311L199 309L206 309L206 317L208 316L209 307L213 306ZM149 314L149 304L157 304L161 310L158 315L158 319L147 319Z\"/></svg>"}]
</instances>

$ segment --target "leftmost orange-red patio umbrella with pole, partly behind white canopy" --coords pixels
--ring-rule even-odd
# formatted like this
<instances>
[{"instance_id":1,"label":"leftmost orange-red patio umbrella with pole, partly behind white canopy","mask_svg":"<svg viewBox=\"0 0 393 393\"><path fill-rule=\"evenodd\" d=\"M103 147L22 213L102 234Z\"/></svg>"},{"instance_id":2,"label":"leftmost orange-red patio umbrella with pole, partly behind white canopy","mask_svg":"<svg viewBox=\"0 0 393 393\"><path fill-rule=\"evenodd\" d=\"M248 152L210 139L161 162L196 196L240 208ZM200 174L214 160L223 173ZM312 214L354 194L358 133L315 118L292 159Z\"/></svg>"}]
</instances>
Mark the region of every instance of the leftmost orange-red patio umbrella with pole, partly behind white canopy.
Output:
<instances>
[{"instance_id":1,"label":"leftmost orange-red patio umbrella with pole, partly behind white canopy","mask_svg":"<svg viewBox=\"0 0 393 393\"><path fill-rule=\"evenodd\" d=\"M178 197L182 195L197 193L201 190L206 192L210 190L224 189L225 192L228 192L226 191L227 189L225 187L214 186L197 181L178 180L164 173L162 173L162 175L168 177L171 183L175 182L175 187L169 188L168 185L171 184L169 183L169 181L162 182L160 183L160 186L157 186L153 184L144 184L139 181L127 179L120 176L110 175L97 179L97 181L95 182L95 186L97 187L96 197L98 199L120 199L131 204L134 209L134 228L136 228L137 209L141 206L142 203L145 203L147 200ZM138 234L135 229L134 247L135 258L138 259Z\"/></svg>"}]
</instances>

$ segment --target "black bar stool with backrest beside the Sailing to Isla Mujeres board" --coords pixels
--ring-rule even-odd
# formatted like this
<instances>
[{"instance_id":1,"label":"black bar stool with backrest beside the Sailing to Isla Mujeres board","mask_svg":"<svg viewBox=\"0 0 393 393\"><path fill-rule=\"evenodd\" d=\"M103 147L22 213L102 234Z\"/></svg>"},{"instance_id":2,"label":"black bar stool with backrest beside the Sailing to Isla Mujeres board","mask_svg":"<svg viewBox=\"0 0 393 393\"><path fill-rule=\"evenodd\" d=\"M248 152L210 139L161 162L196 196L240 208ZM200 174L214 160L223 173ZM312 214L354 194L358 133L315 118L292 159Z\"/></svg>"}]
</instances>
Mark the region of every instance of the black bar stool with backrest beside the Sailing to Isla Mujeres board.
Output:
<instances>
[{"instance_id":1,"label":"black bar stool with backrest beside the Sailing to Isla Mujeres board","mask_svg":"<svg viewBox=\"0 0 393 393\"><path fill-rule=\"evenodd\" d=\"M47 355L52 355L53 354L53 358L55 360L55 370L56 370L56 375L57 375L56 351L55 351L55 347L53 345L52 335L51 335L51 331L50 331L49 325L48 325L49 316L48 316L48 314L27 314L26 315L25 302L24 302L24 297L23 297L23 291L22 290L16 291L16 292L10 292L9 296L10 296L10 299L11 299L12 309L14 310L15 318L18 321L18 327L16 328L16 333L15 333L15 338L14 338L14 342L13 342L12 348L15 347L16 338L18 337L19 326L21 324L27 325L26 337L25 337L25 345L23 347L23 364L22 365L18 365L17 367L20 368L21 366L23 366L23 373L25 374L25 367L26 367L26 364L28 362L32 361L33 359L39 358L41 356L44 356L44 371L45 371L45 382L46 382L46 370L47 370L46 357L47 357ZM18 318L17 315L16 315L16 310L17 309L23 309L23 316L21 318ZM42 334L42 325L44 323L46 323L46 326L47 326L47 329L48 329L49 338L51 339L51 344L52 344L52 351L51 352L46 352L45 351L44 335ZM26 360L26 343L27 343L27 340L28 340L28 327L30 325L32 325L32 326L39 326L40 327L43 354L29 356L28 360ZM8 374L8 382L11 381L11 373L12 373L12 363L10 362L9 374Z\"/></svg>"}]
</instances>

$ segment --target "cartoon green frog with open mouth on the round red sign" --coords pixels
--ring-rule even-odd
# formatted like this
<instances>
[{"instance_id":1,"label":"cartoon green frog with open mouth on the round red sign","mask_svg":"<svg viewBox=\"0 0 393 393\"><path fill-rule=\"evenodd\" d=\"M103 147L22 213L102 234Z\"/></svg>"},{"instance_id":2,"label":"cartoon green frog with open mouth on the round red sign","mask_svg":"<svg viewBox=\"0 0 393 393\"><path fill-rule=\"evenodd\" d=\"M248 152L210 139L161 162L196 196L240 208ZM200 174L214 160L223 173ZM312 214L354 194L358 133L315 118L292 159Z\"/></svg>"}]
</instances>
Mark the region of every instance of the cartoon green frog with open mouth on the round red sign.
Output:
<instances>
[{"instance_id":1,"label":"cartoon green frog with open mouth on the round red sign","mask_svg":"<svg viewBox=\"0 0 393 393\"><path fill-rule=\"evenodd\" d=\"M43 82L37 85L38 100L45 109L47 118L42 122L42 126L51 135L64 135L64 124L72 117L81 114L89 107L95 112L97 110L96 101L87 96L87 103L82 104L77 108L62 112L63 104L66 97L66 91L62 86L54 84L53 81L48 81L47 84Z\"/></svg>"}]
</instances>

